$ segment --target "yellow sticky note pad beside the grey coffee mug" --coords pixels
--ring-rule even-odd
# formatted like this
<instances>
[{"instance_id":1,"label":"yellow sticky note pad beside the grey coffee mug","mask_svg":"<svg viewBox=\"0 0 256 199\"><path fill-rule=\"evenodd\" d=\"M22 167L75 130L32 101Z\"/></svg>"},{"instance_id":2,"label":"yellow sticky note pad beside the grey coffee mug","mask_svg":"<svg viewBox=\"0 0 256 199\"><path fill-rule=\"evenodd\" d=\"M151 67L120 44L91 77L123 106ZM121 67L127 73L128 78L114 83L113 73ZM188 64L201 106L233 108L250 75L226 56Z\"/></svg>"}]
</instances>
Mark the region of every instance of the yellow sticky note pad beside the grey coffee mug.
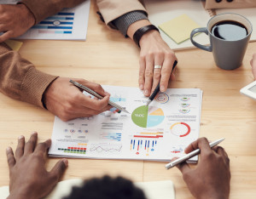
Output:
<instances>
[{"instance_id":1,"label":"yellow sticky note pad beside the grey coffee mug","mask_svg":"<svg viewBox=\"0 0 256 199\"><path fill-rule=\"evenodd\" d=\"M194 20L190 19L187 14L183 14L173 20L166 21L159 27L167 36L171 37L174 42L182 43L189 39L193 29L200 26Z\"/></svg>"}]
</instances>

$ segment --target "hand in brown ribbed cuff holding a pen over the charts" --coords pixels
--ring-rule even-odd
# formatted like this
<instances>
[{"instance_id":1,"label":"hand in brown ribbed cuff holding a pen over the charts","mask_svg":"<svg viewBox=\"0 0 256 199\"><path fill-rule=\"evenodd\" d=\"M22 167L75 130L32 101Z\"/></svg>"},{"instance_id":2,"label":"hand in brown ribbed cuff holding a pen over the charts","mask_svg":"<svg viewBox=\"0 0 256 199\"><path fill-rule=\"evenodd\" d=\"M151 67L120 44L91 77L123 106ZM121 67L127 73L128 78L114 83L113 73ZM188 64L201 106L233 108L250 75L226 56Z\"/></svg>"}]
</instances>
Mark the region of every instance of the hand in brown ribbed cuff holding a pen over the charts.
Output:
<instances>
[{"instance_id":1,"label":"hand in brown ribbed cuff holding a pen over the charts","mask_svg":"<svg viewBox=\"0 0 256 199\"><path fill-rule=\"evenodd\" d=\"M101 94L104 98L91 99L70 83L69 78L59 77L49 85L43 97L44 105L55 116L68 121L78 117L91 117L111 108L108 105L109 94L101 85L84 79L73 80Z\"/></svg>"}]
</instances>

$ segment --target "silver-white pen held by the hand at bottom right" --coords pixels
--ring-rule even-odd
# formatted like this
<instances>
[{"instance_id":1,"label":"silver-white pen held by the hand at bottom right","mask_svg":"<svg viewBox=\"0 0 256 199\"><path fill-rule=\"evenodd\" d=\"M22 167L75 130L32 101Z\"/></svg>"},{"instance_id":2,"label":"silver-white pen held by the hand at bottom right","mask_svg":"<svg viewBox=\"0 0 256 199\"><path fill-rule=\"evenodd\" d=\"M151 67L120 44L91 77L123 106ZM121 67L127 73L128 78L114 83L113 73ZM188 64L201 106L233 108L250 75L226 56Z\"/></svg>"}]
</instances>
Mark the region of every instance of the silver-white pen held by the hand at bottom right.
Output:
<instances>
[{"instance_id":1,"label":"silver-white pen held by the hand at bottom right","mask_svg":"<svg viewBox=\"0 0 256 199\"><path fill-rule=\"evenodd\" d=\"M213 146L218 145L219 143L221 143L223 140L224 140L224 138L223 139L218 139L218 140L216 140L214 142L211 142L209 145L212 148ZM195 151L192 151L192 152L188 153L187 155L182 156L182 157L178 158L177 160L172 161L172 162L166 164L166 169L173 168L177 164L185 162L185 161L189 160L189 158L191 158L193 156L196 156L198 154L200 154L200 149L196 149Z\"/></svg>"}]
</instances>

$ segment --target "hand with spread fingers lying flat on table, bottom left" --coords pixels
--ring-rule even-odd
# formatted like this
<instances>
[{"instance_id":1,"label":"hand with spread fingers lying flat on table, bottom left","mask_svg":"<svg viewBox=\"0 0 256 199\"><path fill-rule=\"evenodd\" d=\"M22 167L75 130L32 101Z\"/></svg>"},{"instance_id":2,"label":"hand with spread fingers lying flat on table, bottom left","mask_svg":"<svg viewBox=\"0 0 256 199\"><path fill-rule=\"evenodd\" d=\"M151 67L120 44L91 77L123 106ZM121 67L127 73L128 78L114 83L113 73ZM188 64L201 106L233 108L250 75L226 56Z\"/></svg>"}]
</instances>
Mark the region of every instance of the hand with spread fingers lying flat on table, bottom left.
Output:
<instances>
[{"instance_id":1,"label":"hand with spread fingers lying flat on table, bottom left","mask_svg":"<svg viewBox=\"0 0 256 199\"><path fill-rule=\"evenodd\" d=\"M6 149L9 164L9 197L8 199L38 199L47 196L55 187L67 168L67 159L62 159L48 172L44 168L50 139L37 145L38 134L33 133L25 143L23 136L19 137L14 152Z\"/></svg>"}]
</instances>

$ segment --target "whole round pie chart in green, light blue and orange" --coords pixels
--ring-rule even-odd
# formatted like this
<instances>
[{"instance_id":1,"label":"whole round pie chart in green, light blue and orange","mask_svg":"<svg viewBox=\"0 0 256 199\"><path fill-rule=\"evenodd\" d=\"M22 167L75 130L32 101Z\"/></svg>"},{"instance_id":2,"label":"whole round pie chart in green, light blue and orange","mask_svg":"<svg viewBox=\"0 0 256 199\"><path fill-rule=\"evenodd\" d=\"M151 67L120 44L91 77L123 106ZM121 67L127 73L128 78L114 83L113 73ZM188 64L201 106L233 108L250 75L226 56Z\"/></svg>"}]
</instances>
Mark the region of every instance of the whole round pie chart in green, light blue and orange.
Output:
<instances>
[{"instance_id":1,"label":"whole round pie chart in green, light blue and orange","mask_svg":"<svg viewBox=\"0 0 256 199\"><path fill-rule=\"evenodd\" d=\"M137 126L150 128L159 125L165 119L164 111L155 106L143 105L134 110L131 120Z\"/></svg>"}]
</instances>

